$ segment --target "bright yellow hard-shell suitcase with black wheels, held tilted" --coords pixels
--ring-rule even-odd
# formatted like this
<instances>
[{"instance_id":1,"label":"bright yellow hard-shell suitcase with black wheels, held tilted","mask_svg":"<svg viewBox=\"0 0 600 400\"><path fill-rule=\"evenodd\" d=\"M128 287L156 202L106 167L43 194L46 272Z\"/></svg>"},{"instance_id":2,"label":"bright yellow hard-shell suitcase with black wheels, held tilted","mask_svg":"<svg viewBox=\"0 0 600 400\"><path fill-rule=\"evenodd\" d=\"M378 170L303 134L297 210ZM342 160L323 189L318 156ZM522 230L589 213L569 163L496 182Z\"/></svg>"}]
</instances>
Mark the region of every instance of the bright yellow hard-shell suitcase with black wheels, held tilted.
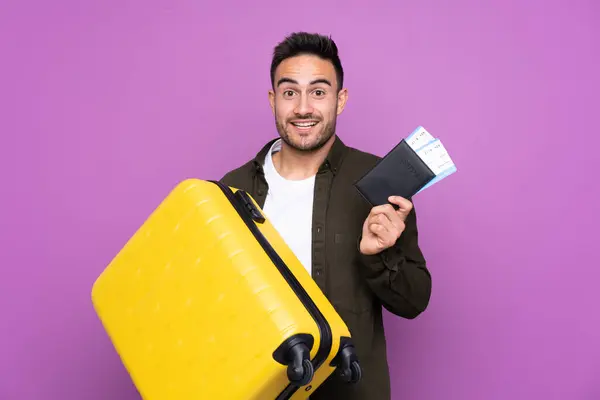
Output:
<instances>
[{"instance_id":1,"label":"bright yellow hard-shell suitcase with black wheels, held tilted","mask_svg":"<svg viewBox=\"0 0 600 400\"><path fill-rule=\"evenodd\" d=\"M344 321L254 199L220 182L177 185L92 302L146 400L306 399L336 370L360 379Z\"/></svg>"}]
</instances>

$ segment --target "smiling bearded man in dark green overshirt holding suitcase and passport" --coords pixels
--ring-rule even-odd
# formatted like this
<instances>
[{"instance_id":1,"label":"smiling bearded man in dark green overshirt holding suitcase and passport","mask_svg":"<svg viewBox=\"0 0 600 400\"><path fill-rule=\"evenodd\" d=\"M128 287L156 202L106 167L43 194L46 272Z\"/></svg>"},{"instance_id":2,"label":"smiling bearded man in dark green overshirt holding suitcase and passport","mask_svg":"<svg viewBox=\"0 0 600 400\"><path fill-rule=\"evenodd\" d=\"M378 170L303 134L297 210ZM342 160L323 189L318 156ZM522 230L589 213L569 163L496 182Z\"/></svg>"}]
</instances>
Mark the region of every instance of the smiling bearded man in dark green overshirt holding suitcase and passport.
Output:
<instances>
[{"instance_id":1,"label":"smiling bearded man in dark green overshirt holding suitcase and passport","mask_svg":"<svg viewBox=\"0 0 600 400\"><path fill-rule=\"evenodd\" d=\"M278 44L269 101L280 138L221 181L254 197L352 333L361 381L334 374L311 399L389 400L382 307L417 317L431 277L409 199L371 208L353 186L379 158L336 134L348 99L343 79L333 40L301 32Z\"/></svg>"}]
</instances>

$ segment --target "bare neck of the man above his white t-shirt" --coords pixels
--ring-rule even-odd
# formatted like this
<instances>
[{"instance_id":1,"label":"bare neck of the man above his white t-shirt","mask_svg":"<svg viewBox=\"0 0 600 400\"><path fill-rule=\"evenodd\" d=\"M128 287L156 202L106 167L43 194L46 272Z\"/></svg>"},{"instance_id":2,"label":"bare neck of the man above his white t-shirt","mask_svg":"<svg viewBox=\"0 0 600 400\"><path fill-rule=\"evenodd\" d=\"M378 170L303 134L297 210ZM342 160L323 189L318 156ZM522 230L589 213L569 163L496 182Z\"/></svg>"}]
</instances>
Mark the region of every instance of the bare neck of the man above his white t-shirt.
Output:
<instances>
[{"instance_id":1,"label":"bare neck of the man above his white t-shirt","mask_svg":"<svg viewBox=\"0 0 600 400\"><path fill-rule=\"evenodd\" d=\"M282 141L281 150L273 155L273 164L279 175L289 180L302 180L317 174L333 142L333 135L324 146L315 151L301 151Z\"/></svg>"}]
</instances>

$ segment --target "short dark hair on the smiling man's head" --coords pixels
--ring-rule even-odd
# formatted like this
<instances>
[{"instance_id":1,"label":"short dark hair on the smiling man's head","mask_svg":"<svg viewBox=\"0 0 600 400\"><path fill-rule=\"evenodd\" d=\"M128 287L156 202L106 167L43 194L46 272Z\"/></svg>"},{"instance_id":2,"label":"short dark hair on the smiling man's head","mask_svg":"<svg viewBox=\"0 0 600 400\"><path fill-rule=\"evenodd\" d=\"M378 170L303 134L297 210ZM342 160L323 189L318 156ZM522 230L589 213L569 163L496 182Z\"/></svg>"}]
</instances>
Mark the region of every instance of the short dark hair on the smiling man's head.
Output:
<instances>
[{"instance_id":1,"label":"short dark hair on the smiling man's head","mask_svg":"<svg viewBox=\"0 0 600 400\"><path fill-rule=\"evenodd\" d=\"M294 32L277 44L271 61L271 86L275 87L275 70L279 64L287 58L303 54L330 61L335 68L338 90L344 87L344 69L335 42L331 37L308 32Z\"/></svg>"}]
</instances>

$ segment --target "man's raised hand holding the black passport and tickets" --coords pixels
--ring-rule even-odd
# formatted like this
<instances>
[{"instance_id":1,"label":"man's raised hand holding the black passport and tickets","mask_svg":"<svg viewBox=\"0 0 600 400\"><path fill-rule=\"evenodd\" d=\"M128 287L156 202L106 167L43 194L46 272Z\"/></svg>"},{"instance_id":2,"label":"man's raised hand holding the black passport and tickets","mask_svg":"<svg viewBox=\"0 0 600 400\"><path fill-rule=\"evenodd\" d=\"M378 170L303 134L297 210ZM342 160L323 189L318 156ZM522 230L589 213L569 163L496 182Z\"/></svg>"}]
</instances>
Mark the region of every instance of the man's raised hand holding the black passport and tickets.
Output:
<instances>
[{"instance_id":1,"label":"man's raised hand holding the black passport and tickets","mask_svg":"<svg viewBox=\"0 0 600 400\"><path fill-rule=\"evenodd\" d=\"M404 232L404 221L413 208L410 201L403 197L392 196L389 202L398 206L395 210L391 204L373 207L363 224L360 252L365 255L378 254L396 244Z\"/></svg>"}]
</instances>

